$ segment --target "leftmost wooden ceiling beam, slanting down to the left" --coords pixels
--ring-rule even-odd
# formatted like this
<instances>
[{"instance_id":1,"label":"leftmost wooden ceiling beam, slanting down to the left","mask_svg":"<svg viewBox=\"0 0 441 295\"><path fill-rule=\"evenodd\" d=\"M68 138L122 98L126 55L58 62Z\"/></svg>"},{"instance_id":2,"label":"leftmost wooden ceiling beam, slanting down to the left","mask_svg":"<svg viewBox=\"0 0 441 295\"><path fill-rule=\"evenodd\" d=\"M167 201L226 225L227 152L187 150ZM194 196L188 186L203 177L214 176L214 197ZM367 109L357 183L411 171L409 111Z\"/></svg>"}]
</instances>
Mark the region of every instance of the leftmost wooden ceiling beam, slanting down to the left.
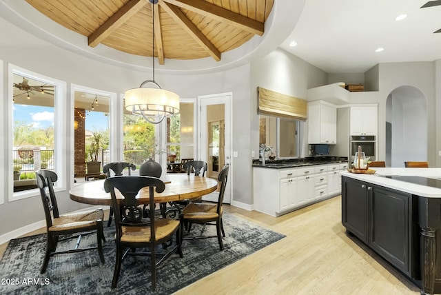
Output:
<instances>
[{"instance_id":1,"label":"leftmost wooden ceiling beam, slanting down to the left","mask_svg":"<svg viewBox=\"0 0 441 295\"><path fill-rule=\"evenodd\" d=\"M141 10L147 4L147 0L130 0L115 12L110 19L107 19L95 32L88 37L89 46L95 47L105 38L107 38L114 30L119 28L125 21L130 19L132 15Z\"/></svg>"}]
</instances>

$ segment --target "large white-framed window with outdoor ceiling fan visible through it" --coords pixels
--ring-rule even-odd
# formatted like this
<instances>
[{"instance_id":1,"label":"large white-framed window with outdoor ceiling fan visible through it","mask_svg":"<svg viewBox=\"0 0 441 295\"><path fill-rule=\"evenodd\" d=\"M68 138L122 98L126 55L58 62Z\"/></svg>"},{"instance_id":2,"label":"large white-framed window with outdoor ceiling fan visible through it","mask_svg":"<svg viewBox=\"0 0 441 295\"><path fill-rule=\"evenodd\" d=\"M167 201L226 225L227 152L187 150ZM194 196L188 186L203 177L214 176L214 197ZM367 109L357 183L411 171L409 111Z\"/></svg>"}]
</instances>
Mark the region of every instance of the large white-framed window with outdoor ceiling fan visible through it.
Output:
<instances>
[{"instance_id":1,"label":"large white-framed window with outdoor ceiling fan visible through it","mask_svg":"<svg viewBox=\"0 0 441 295\"><path fill-rule=\"evenodd\" d=\"M65 130L65 83L10 65L10 201L37 194L34 170L59 174L65 187L61 155Z\"/></svg>"}]
</instances>

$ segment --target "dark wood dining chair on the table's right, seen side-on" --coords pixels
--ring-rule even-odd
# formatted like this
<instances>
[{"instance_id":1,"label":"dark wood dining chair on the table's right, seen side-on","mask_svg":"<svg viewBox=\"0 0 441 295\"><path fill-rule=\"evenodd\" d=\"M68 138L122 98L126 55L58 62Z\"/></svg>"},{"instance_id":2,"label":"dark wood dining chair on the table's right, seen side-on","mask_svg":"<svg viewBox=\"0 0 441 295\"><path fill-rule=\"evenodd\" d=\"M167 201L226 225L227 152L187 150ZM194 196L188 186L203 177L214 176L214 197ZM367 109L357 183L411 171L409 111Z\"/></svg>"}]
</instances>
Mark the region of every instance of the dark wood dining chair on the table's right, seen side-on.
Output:
<instances>
[{"instance_id":1,"label":"dark wood dining chair on the table's right, seen side-on","mask_svg":"<svg viewBox=\"0 0 441 295\"><path fill-rule=\"evenodd\" d=\"M222 237L225 236L225 231L223 229L222 223L222 213L223 213L223 197L225 194L225 187L227 185L229 166L226 165L220 171L218 176L218 181L220 182L220 191L218 196L218 201L216 204L211 203L189 203L181 213L181 241L189 239L200 239L200 238L218 238L218 243L220 251L223 250ZM216 225L216 236L203 236L203 230L199 236L192 238L184 238L184 225L189 223L188 232L191 230L192 223L198 223L204 225Z\"/></svg>"}]
</instances>

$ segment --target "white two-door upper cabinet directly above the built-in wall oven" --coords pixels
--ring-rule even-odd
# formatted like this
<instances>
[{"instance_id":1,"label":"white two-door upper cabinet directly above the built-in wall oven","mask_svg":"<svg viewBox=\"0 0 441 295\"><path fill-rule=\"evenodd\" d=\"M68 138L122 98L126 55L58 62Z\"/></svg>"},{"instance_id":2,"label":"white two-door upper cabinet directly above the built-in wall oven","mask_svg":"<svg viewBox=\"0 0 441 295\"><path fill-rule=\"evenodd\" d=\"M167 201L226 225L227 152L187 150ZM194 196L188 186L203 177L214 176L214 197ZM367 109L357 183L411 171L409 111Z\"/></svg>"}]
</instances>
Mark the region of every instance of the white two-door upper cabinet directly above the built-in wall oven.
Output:
<instances>
[{"instance_id":1,"label":"white two-door upper cabinet directly above the built-in wall oven","mask_svg":"<svg viewBox=\"0 0 441 295\"><path fill-rule=\"evenodd\" d=\"M377 135L378 108L376 106L351 107L351 135Z\"/></svg>"}]
</instances>

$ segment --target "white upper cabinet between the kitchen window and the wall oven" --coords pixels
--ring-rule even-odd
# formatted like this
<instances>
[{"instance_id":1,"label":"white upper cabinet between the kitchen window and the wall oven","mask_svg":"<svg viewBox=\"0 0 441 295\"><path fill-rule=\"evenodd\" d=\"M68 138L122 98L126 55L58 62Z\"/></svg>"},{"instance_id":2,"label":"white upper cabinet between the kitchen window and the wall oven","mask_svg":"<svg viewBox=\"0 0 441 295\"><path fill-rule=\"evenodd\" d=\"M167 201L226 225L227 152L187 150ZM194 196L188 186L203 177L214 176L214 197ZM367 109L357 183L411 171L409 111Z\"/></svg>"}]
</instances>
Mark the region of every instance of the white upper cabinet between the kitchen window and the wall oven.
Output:
<instances>
[{"instance_id":1,"label":"white upper cabinet between the kitchen window and the wall oven","mask_svg":"<svg viewBox=\"0 0 441 295\"><path fill-rule=\"evenodd\" d=\"M337 109L330 103L308 103L308 143L337 143Z\"/></svg>"}]
</instances>

